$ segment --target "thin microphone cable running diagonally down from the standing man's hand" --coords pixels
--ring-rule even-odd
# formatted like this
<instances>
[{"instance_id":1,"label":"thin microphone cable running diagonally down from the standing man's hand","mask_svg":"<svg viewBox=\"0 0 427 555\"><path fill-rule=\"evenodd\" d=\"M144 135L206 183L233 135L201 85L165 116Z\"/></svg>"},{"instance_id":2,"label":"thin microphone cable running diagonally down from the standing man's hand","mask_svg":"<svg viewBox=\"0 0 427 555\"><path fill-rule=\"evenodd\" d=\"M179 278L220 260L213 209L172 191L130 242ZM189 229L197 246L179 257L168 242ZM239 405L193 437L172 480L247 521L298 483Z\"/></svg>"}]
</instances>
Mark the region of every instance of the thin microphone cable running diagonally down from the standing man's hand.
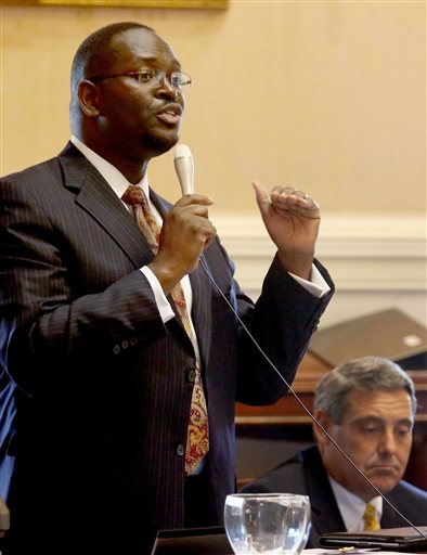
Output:
<instances>
[{"instance_id":1,"label":"thin microphone cable running diagonally down from the standing man's hand","mask_svg":"<svg viewBox=\"0 0 427 555\"><path fill-rule=\"evenodd\" d=\"M266 352L263 351L261 346L258 344L258 341L255 339L255 337L249 332L247 326L244 324L244 322L242 321L241 317L234 310L234 307L231 305L229 299L222 293L222 291L220 289L219 285L215 281L211 272L209 271L209 269L205 264L205 261L203 260L203 256L200 257L199 263L200 263L202 268L204 269L204 271L205 271L206 275L208 276L208 279L215 285L216 289L219 292L221 297L225 300L227 305L230 307L230 309L232 310L233 314L236 317L236 319L238 320L240 324L245 330L245 332L247 333L247 335L249 336L249 338L251 339L254 345L257 347L257 349L262 354L262 357L267 360L267 362L270 364L270 366L274 370L274 372L277 374L277 376L282 379L282 382L286 385L286 387L288 388L288 391L290 391L290 393L295 397L295 399L297 400L298 404L302 408L302 410L310 416L310 418L314 422L314 424L321 428L321 430L325 434L325 436L329 439L329 441L336 447L336 449L341 453L341 455L346 459L346 461L348 461L350 463L350 465L360 474L360 476L362 476L362 478L372 487L372 489L375 490L376 493L391 507L391 509L394 511L396 514L399 515L407 525L410 525L410 527L413 528L422 538L425 538L427 540L427 533L424 533L422 530L419 530L419 528L417 528L415 525L413 525L411 522L411 520L409 520L404 515L402 515L402 513L391 503L391 501L389 501L386 498L386 495L384 493L381 493L378 490L378 488L367 478L367 476L355 465L355 463L350 459L350 456L338 446L338 443L331 436L331 434L324 428L324 426L322 426L322 424L318 421L318 418L303 404L303 402L299 399L298 395L294 391L294 389L287 383L287 380L282 376L282 374L280 373L277 367L270 360L270 358L266 354Z\"/></svg>"}]
</instances>

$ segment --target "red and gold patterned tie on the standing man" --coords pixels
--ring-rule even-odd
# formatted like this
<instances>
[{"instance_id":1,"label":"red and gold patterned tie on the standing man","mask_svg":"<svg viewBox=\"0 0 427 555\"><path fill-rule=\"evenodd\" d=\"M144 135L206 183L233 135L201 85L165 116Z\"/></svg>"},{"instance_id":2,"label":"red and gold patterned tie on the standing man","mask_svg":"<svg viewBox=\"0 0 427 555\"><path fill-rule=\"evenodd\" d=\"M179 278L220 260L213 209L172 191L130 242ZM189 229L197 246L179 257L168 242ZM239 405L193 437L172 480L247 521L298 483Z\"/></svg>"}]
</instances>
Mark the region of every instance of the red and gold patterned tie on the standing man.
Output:
<instances>
[{"instance_id":1,"label":"red and gold patterned tie on the standing man","mask_svg":"<svg viewBox=\"0 0 427 555\"><path fill-rule=\"evenodd\" d=\"M148 208L143 190L138 185L129 185L122 195L124 203L132 207L133 216L141 229L144 237L152 247L153 253L157 253L158 242L160 237L160 227ZM190 324L189 311L186 309L184 292L181 283L178 283L171 296L177 306L178 312L184 324L185 331L190 336L193 345L195 337ZM195 379L193 386L193 396L190 410L190 423L186 439L185 452L185 474L190 475L198 463L203 460L209 450L209 430L208 415L205 393L203 390L199 361L196 359Z\"/></svg>"}]
</instances>

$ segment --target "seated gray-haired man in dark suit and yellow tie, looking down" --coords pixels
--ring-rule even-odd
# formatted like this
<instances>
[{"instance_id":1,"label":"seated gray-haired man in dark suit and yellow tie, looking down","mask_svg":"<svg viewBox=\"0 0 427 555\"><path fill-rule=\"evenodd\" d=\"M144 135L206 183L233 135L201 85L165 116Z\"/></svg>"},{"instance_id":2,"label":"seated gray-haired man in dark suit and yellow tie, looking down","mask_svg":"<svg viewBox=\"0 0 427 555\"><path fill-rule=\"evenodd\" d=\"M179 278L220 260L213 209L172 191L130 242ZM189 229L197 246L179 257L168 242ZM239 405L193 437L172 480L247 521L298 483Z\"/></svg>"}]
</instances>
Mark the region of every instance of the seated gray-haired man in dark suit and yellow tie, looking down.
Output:
<instances>
[{"instance_id":1,"label":"seated gray-haired man in dark suit and yellow tie, looking down","mask_svg":"<svg viewBox=\"0 0 427 555\"><path fill-rule=\"evenodd\" d=\"M415 411L414 384L398 364L378 357L341 364L314 392L314 416L329 437L314 424L315 446L242 491L308 495L312 527L307 548L318 547L319 535L328 532L410 526L399 513L412 525L426 525L427 492L402 480ZM367 503L372 514L364 516Z\"/></svg>"}]
</instances>

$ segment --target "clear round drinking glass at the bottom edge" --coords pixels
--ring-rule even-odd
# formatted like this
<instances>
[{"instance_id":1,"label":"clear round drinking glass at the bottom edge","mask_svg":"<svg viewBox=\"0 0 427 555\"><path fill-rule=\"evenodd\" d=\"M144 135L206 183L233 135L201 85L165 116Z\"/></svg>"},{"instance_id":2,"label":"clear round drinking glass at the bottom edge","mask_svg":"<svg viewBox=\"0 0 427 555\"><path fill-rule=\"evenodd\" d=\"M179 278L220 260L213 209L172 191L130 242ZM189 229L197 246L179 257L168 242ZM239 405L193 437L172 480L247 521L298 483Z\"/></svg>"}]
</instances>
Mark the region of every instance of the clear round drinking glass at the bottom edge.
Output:
<instances>
[{"instance_id":1,"label":"clear round drinking glass at the bottom edge","mask_svg":"<svg viewBox=\"0 0 427 555\"><path fill-rule=\"evenodd\" d=\"M234 493L225 500L224 527L235 554L299 555L310 522L307 495Z\"/></svg>"}]
</instances>

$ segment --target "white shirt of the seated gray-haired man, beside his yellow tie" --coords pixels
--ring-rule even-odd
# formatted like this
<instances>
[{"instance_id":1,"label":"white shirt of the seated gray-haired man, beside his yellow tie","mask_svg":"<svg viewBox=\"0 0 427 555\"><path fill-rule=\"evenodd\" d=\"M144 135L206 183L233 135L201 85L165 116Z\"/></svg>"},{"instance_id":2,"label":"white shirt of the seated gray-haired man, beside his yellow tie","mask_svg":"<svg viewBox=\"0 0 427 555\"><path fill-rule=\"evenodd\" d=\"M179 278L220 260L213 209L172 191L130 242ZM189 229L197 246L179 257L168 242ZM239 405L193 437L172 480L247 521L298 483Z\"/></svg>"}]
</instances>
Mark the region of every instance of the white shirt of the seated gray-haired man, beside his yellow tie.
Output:
<instances>
[{"instance_id":1,"label":"white shirt of the seated gray-haired man, beside his yellow tie","mask_svg":"<svg viewBox=\"0 0 427 555\"><path fill-rule=\"evenodd\" d=\"M334 480L331 476L328 476L328 478L347 531L362 531L364 529L363 513L365 512L366 503ZM378 520L380 520L383 515L383 498L377 495L372 499L370 503L375 506Z\"/></svg>"}]
</instances>

